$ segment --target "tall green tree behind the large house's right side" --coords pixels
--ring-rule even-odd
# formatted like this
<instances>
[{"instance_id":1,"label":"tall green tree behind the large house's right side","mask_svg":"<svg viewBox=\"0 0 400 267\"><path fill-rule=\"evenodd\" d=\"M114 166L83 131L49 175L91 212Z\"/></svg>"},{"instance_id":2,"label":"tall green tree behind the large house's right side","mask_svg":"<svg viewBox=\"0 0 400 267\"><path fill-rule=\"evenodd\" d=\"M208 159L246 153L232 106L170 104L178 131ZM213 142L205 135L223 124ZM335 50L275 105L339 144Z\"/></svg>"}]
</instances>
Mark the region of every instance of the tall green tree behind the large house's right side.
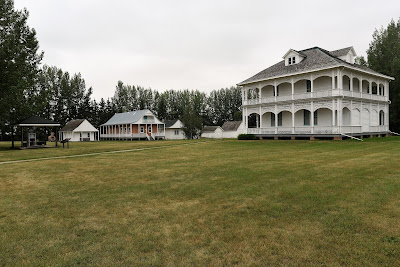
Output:
<instances>
[{"instance_id":1,"label":"tall green tree behind the large house's right side","mask_svg":"<svg viewBox=\"0 0 400 267\"><path fill-rule=\"evenodd\" d=\"M389 120L391 129L400 131L400 19L392 20L386 29L375 30L367 50L368 66L395 78L390 83Z\"/></svg>"}]
</instances>

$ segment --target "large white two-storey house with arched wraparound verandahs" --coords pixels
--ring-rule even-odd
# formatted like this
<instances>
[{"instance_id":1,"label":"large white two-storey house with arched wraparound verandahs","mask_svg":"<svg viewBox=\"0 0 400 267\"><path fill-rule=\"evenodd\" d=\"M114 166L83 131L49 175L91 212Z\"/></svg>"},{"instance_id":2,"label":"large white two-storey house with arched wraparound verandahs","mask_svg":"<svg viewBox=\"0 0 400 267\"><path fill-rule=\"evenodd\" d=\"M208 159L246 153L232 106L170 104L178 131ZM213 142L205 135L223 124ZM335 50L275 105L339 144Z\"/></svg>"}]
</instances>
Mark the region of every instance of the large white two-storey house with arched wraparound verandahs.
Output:
<instances>
[{"instance_id":1,"label":"large white two-storey house with arched wraparound verandahs","mask_svg":"<svg viewBox=\"0 0 400 267\"><path fill-rule=\"evenodd\" d=\"M355 64L353 47L290 49L242 87L243 122L259 137L386 135L393 77Z\"/></svg>"}]
</instances>

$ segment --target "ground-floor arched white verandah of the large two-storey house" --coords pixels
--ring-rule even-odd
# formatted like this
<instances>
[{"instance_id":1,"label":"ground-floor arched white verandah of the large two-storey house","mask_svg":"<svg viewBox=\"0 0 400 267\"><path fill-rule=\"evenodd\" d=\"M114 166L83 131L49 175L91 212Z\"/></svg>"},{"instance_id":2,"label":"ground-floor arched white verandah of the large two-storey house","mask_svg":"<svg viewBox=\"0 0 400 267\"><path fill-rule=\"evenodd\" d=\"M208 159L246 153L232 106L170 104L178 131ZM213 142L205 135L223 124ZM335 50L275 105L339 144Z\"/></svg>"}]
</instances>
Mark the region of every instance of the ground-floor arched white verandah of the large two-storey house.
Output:
<instances>
[{"instance_id":1,"label":"ground-floor arched white verandah of the large two-storey house","mask_svg":"<svg viewBox=\"0 0 400 267\"><path fill-rule=\"evenodd\" d=\"M292 113L266 111L260 116L252 113L247 116L247 132L254 134L342 134L388 132L383 110L360 111L344 107L340 111L318 108L314 112L300 109Z\"/></svg>"}]
</instances>

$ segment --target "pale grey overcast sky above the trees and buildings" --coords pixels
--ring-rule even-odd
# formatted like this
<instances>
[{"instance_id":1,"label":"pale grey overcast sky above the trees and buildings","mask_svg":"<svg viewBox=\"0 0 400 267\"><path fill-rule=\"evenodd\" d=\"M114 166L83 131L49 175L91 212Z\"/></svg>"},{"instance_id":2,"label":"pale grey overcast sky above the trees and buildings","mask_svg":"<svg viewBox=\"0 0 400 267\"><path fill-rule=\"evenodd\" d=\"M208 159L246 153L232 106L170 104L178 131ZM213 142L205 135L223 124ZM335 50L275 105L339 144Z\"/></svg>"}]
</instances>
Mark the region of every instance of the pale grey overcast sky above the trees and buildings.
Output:
<instances>
[{"instance_id":1,"label":"pale grey overcast sky above the trees and buildings","mask_svg":"<svg viewBox=\"0 0 400 267\"><path fill-rule=\"evenodd\" d=\"M125 84L235 85L295 50L354 46L400 16L400 1L15 0L30 12L44 64L80 72L99 100Z\"/></svg>"}]
</instances>

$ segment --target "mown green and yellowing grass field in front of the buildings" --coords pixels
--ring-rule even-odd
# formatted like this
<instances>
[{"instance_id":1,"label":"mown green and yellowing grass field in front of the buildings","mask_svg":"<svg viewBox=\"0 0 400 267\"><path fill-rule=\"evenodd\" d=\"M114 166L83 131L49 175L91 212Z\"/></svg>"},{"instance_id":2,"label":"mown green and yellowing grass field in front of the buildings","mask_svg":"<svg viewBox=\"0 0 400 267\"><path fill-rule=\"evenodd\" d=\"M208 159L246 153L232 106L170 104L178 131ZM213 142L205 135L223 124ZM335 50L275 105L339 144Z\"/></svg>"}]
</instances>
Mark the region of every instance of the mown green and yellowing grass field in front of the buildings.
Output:
<instances>
[{"instance_id":1,"label":"mown green and yellowing grass field in front of the buildings","mask_svg":"<svg viewBox=\"0 0 400 267\"><path fill-rule=\"evenodd\" d=\"M0 265L400 265L400 138L196 142L0 143L169 146L0 165Z\"/></svg>"}]
</instances>

